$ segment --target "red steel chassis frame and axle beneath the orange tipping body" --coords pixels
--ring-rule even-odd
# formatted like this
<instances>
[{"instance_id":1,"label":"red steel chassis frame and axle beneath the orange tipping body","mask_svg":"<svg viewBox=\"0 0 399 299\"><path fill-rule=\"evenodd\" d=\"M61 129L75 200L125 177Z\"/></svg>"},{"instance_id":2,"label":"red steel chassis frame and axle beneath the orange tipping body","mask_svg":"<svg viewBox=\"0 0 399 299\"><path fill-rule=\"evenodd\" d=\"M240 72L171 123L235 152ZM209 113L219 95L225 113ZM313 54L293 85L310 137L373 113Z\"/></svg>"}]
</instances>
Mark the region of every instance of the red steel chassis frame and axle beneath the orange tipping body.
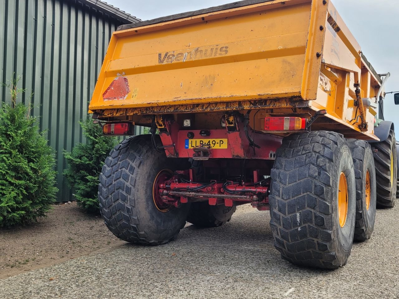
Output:
<instances>
[{"instance_id":1,"label":"red steel chassis frame and axle beneath the orange tipping body","mask_svg":"<svg viewBox=\"0 0 399 299\"><path fill-rule=\"evenodd\" d=\"M277 149L281 146L282 137L271 134L254 132L243 122L235 120L233 126L226 123L226 127L219 130L190 130L180 129L174 120L157 122L160 131L162 147L166 156L171 158L192 158L213 164L216 159L263 159L274 160ZM248 123L247 123L248 124ZM247 132L245 132L247 130ZM247 135L256 143L251 143ZM227 139L226 149L212 149L206 145L188 148L186 140L190 139ZM270 180L260 179L258 170L253 171L251 182L210 181L209 183L194 183L195 171L176 171L174 174L164 173L162 179L154 183L153 195L157 206L179 207L181 204L193 201L207 201L209 205L242 205L251 203L259 210L269 210ZM183 179L182 177L190 178ZM262 177L263 178L263 177Z\"/></svg>"}]
</instances>

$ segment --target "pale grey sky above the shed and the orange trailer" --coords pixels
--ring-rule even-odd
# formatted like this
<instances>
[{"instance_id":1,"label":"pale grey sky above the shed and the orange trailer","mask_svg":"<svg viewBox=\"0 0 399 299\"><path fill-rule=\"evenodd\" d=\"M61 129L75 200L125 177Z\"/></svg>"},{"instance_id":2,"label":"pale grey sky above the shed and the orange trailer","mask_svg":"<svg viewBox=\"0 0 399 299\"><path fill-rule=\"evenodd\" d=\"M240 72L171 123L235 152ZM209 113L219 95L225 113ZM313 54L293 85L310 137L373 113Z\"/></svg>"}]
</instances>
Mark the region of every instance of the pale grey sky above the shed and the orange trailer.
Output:
<instances>
[{"instance_id":1,"label":"pale grey sky above the shed and the orange trailer","mask_svg":"<svg viewBox=\"0 0 399 299\"><path fill-rule=\"evenodd\" d=\"M233 0L106 0L142 20L231 3ZM391 73L386 92L399 91L399 3L397 0L332 0L377 73ZM399 105L384 101L385 120L399 132ZM399 133L398 133L399 135ZM397 137L397 139L399 139Z\"/></svg>"}]
</instances>

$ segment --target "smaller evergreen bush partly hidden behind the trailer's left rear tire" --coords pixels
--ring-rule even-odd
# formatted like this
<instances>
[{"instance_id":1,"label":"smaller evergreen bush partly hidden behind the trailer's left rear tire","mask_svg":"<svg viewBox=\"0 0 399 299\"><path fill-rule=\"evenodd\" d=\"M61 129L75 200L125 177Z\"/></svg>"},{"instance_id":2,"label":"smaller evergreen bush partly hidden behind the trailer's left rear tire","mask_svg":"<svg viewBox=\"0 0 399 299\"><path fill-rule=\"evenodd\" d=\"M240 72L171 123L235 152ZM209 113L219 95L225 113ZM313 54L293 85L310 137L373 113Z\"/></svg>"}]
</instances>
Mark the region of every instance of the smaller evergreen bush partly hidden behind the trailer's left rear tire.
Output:
<instances>
[{"instance_id":1,"label":"smaller evergreen bush partly hidden behind the trailer's left rear tire","mask_svg":"<svg viewBox=\"0 0 399 299\"><path fill-rule=\"evenodd\" d=\"M91 213L99 212L97 199L99 175L109 152L118 143L117 137L103 136L103 130L93 120L80 122L86 143L76 144L71 152L64 151L68 167L64 175L74 190L78 205Z\"/></svg>"}]
</instances>

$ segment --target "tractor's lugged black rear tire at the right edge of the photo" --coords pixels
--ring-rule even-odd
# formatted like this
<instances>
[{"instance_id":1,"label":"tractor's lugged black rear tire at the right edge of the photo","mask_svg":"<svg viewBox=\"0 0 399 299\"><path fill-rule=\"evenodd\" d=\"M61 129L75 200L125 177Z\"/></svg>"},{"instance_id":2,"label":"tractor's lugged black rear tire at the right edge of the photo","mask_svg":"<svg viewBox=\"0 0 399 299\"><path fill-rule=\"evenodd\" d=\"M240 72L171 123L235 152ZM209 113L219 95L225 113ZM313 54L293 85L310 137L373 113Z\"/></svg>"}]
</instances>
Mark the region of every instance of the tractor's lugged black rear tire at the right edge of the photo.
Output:
<instances>
[{"instance_id":1,"label":"tractor's lugged black rear tire at the right edge of the photo","mask_svg":"<svg viewBox=\"0 0 399 299\"><path fill-rule=\"evenodd\" d=\"M387 140L373 143L372 146L378 150L373 153L377 180L377 208L391 209L395 205L398 175L395 132L390 130ZM393 169L391 169L391 154ZM391 171L393 171L392 183Z\"/></svg>"}]
</instances>

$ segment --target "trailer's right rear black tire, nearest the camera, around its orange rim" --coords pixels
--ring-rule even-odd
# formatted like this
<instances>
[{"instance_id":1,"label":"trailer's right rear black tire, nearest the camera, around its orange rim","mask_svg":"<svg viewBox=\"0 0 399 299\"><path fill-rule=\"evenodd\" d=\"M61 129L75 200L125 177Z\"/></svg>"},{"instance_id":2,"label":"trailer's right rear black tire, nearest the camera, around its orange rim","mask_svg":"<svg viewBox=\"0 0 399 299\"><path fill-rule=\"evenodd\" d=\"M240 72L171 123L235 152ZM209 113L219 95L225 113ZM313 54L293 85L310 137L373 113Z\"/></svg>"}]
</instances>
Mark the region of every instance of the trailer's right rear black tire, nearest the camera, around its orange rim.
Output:
<instances>
[{"instance_id":1,"label":"trailer's right rear black tire, nearest the camera, around its orange rim","mask_svg":"<svg viewBox=\"0 0 399 299\"><path fill-rule=\"evenodd\" d=\"M346 175L348 213L338 218L340 175ZM270 225L282 258L300 266L336 269L350 255L356 184L352 154L341 134L293 134L283 139L271 171Z\"/></svg>"}]
</instances>

